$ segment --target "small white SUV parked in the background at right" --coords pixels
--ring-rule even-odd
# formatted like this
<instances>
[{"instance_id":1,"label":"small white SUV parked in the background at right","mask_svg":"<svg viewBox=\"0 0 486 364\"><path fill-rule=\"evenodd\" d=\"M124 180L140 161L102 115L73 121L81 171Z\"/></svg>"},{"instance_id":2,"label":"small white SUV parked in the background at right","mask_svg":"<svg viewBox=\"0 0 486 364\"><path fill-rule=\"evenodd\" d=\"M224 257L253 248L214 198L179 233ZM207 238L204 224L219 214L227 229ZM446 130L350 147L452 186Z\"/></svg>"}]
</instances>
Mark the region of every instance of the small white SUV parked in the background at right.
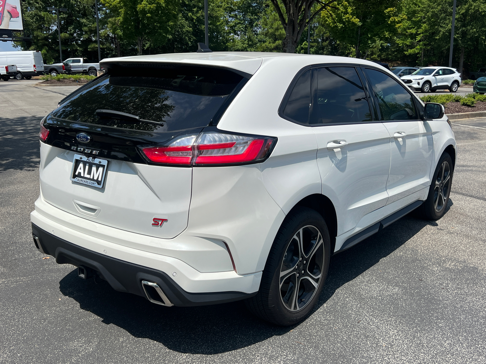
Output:
<instances>
[{"instance_id":1,"label":"small white SUV parked in the background at right","mask_svg":"<svg viewBox=\"0 0 486 364\"><path fill-rule=\"evenodd\" d=\"M423 67L408 76L401 77L403 83L413 90L430 92L449 90L456 92L461 84L461 75L454 68Z\"/></svg>"}]
</instances>

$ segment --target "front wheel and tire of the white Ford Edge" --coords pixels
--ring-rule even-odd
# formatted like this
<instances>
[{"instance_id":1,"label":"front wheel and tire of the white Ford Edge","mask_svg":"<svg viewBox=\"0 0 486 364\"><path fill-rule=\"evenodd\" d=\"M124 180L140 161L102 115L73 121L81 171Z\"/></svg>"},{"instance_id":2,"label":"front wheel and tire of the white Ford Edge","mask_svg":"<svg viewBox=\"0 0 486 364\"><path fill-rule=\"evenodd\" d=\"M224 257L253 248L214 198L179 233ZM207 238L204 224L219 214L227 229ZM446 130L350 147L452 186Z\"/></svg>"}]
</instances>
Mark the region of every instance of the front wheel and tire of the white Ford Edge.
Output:
<instances>
[{"instance_id":1,"label":"front wheel and tire of the white Ford Edge","mask_svg":"<svg viewBox=\"0 0 486 364\"><path fill-rule=\"evenodd\" d=\"M451 194L452 175L451 156L449 153L444 152L435 168L429 195L417 209L419 217L425 220L437 220L446 213L447 203Z\"/></svg>"}]
</instances>

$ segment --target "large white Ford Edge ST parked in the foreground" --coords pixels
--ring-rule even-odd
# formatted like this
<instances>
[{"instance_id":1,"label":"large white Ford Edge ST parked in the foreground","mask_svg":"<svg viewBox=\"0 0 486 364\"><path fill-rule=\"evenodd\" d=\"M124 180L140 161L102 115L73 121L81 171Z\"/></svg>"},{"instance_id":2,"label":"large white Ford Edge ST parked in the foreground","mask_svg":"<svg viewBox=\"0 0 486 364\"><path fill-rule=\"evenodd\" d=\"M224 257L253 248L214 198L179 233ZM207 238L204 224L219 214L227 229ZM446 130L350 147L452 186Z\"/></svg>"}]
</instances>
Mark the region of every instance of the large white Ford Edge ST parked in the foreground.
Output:
<instances>
[{"instance_id":1,"label":"large white Ford Edge ST parked in the foreground","mask_svg":"<svg viewBox=\"0 0 486 364\"><path fill-rule=\"evenodd\" d=\"M36 247L165 306L246 299L295 324L330 256L418 208L446 211L440 104L344 57L106 59L41 122Z\"/></svg>"}]
</instances>

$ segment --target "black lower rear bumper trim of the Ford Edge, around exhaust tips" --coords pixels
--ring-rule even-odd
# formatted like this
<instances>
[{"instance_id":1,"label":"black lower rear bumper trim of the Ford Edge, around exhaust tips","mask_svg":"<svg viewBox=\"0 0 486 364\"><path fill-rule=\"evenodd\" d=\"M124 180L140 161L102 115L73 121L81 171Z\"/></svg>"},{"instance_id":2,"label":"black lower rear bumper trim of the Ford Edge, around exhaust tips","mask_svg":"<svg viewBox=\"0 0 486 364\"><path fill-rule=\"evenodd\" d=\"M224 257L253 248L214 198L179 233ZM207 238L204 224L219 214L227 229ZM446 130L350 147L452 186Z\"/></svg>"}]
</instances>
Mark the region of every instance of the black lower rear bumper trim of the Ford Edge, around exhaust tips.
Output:
<instances>
[{"instance_id":1,"label":"black lower rear bumper trim of the Ford Edge, around exhaust tips","mask_svg":"<svg viewBox=\"0 0 486 364\"><path fill-rule=\"evenodd\" d=\"M69 243L32 224L32 233L38 237L42 250L56 258L58 264L85 266L98 274L121 292L129 292L145 297L141 281L152 281L159 285L167 298L175 306L202 306L237 301L255 296L255 293L243 292L210 292L189 293L184 291L166 273L156 269L125 262L92 250Z\"/></svg>"}]
</instances>

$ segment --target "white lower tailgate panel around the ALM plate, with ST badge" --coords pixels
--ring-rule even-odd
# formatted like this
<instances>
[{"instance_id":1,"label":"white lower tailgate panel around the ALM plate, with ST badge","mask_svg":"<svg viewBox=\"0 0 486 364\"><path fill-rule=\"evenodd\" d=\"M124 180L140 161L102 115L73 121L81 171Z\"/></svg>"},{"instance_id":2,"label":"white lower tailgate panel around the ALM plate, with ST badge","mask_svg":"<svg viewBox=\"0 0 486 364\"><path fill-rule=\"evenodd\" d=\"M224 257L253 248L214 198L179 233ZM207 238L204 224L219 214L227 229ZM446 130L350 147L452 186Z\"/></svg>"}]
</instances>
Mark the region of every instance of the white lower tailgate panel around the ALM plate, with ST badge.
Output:
<instances>
[{"instance_id":1,"label":"white lower tailgate panel around the ALM plate, with ST badge","mask_svg":"<svg viewBox=\"0 0 486 364\"><path fill-rule=\"evenodd\" d=\"M40 186L52 205L71 214L139 234L170 239L186 227L191 201L191 168L110 160L103 188L68 178L75 152L41 143ZM130 191L127 193L127 191ZM82 206L93 206L90 214ZM166 218L163 229L153 218Z\"/></svg>"}]
</instances>

